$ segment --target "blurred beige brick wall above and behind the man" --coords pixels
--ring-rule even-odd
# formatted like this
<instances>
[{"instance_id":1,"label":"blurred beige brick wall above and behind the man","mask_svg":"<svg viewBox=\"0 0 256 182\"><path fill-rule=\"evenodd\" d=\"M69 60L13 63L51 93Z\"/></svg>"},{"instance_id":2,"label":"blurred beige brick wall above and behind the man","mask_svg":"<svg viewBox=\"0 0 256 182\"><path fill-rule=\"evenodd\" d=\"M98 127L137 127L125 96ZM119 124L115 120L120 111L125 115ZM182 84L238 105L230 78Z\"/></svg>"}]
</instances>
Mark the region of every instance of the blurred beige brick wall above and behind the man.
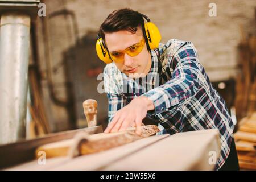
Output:
<instances>
[{"instance_id":1,"label":"blurred beige brick wall above and behind the man","mask_svg":"<svg viewBox=\"0 0 256 182\"><path fill-rule=\"evenodd\" d=\"M217 17L208 15L210 2L217 5ZM245 26L246 30L255 28L255 0L55 0L46 3L47 13L64 6L75 11L80 37L89 30L97 31L106 16L115 9L130 7L146 14L159 27L163 43L176 38L195 44L200 61L212 81L223 80L236 73L233 68L236 67L240 24ZM213 68L216 68L216 71Z\"/></svg>"}]
</instances>

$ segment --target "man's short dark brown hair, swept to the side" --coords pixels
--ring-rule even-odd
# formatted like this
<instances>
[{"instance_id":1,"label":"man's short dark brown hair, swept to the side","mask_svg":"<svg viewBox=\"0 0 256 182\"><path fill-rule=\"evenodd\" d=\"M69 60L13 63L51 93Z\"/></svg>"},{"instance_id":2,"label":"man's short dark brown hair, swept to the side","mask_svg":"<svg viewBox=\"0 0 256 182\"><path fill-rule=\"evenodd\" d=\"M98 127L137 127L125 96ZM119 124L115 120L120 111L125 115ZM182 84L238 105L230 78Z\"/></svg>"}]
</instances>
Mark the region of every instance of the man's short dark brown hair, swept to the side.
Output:
<instances>
[{"instance_id":1,"label":"man's short dark brown hair, swept to the side","mask_svg":"<svg viewBox=\"0 0 256 182\"><path fill-rule=\"evenodd\" d=\"M143 16L130 8L115 10L108 15L100 26L100 36L105 39L105 33L127 30L135 34L137 27L144 28Z\"/></svg>"}]
</instances>

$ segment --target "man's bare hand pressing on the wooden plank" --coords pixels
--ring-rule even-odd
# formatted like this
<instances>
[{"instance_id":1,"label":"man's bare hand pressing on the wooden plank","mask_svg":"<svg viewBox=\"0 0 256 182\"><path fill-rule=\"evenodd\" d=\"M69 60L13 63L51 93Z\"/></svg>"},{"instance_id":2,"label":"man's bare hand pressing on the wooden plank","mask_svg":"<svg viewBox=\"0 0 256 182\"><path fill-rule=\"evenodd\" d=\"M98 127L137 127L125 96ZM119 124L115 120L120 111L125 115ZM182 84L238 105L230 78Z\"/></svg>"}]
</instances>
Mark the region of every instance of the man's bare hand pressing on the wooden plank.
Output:
<instances>
[{"instance_id":1,"label":"man's bare hand pressing on the wooden plank","mask_svg":"<svg viewBox=\"0 0 256 182\"><path fill-rule=\"evenodd\" d=\"M141 134L142 119L146 117L148 110L153 110L154 103L146 96L134 98L128 105L118 110L104 133L125 131L135 122L136 133Z\"/></svg>"}]
</instances>

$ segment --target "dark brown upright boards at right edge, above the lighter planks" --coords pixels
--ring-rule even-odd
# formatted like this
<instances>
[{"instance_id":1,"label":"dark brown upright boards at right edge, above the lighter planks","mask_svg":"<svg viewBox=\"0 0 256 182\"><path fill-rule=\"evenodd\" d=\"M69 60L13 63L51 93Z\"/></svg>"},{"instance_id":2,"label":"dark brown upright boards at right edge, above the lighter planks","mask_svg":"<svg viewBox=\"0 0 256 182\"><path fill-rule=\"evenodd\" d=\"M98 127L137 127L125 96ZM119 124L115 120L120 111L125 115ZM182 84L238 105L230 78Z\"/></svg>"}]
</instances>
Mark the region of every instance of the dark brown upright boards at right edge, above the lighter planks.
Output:
<instances>
[{"instance_id":1,"label":"dark brown upright boards at right edge, above the lighter planks","mask_svg":"<svg viewBox=\"0 0 256 182\"><path fill-rule=\"evenodd\" d=\"M238 44L239 72L236 78L237 121L256 111L256 35L246 36L241 27L241 37Z\"/></svg>"}]
</instances>

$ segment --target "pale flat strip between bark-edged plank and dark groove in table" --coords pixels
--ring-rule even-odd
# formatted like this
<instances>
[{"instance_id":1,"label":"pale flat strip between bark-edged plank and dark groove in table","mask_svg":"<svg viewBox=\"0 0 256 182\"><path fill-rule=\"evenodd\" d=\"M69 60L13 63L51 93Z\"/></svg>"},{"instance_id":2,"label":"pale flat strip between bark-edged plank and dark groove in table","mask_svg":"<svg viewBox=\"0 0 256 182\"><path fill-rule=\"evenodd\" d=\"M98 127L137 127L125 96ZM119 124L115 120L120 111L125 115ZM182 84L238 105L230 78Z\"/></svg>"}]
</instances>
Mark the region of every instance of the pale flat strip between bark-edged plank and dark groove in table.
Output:
<instances>
[{"instance_id":1,"label":"pale flat strip between bark-edged plank and dark groove in table","mask_svg":"<svg viewBox=\"0 0 256 182\"><path fill-rule=\"evenodd\" d=\"M151 136L111 148L110 150L98 152L96 154L82 155L76 158L69 158L67 156L47 158L45 165L39 165L37 160L33 160L32 162L6 168L6 170L99 170L117 160L125 158L126 156L133 155L142 148L155 144L168 136L170 135Z\"/></svg>"}]
</instances>

